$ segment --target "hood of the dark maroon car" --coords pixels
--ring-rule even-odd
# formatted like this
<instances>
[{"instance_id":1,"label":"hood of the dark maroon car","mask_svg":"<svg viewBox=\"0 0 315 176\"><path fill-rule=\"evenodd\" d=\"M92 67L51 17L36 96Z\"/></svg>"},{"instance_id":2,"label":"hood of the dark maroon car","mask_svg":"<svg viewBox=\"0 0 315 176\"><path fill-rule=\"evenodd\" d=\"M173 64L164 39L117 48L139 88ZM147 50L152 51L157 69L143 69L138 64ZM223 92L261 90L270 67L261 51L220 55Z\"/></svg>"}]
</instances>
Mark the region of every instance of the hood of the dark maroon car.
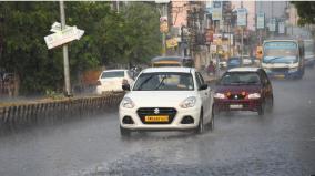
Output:
<instances>
[{"instance_id":1,"label":"hood of the dark maroon car","mask_svg":"<svg viewBox=\"0 0 315 176\"><path fill-rule=\"evenodd\" d=\"M215 93L240 93L240 92L248 92L248 93L260 93L262 86L261 85L219 85L215 89Z\"/></svg>"}]
</instances>

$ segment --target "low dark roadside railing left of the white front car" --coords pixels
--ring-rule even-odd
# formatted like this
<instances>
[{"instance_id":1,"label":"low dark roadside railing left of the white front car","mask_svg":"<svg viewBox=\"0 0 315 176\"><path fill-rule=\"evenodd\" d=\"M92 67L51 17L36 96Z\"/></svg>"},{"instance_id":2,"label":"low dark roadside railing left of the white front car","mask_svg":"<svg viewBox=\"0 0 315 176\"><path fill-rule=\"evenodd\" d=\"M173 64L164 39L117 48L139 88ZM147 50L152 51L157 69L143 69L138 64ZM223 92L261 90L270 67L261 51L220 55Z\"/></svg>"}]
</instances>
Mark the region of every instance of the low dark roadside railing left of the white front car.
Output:
<instances>
[{"instance_id":1,"label":"low dark roadside railing left of the white front car","mask_svg":"<svg viewBox=\"0 0 315 176\"><path fill-rule=\"evenodd\" d=\"M98 115L115 110L123 95L110 93L94 97L0 105L0 128Z\"/></svg>"}]
</instances>

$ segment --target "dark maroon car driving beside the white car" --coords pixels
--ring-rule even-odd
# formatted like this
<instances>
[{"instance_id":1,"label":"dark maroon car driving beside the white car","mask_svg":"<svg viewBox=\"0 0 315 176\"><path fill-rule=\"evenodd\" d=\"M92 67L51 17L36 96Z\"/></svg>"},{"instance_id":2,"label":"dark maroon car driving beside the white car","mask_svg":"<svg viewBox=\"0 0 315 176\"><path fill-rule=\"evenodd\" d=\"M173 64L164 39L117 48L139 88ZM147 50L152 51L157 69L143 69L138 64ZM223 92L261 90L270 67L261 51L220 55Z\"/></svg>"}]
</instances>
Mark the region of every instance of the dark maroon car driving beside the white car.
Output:
<instances>
[{"instance_id":1,"label":"dark maroon car driving beside the white car","mask_svg":"<svg viewBox=\"0 0 315 176\"><path fill-rule=\"evenodd\" d=\"M263 115L273 107L273 90L264 70L235 68L226 71L214 93L214 111L254 111Z\"/></svg>"}]
</instances>

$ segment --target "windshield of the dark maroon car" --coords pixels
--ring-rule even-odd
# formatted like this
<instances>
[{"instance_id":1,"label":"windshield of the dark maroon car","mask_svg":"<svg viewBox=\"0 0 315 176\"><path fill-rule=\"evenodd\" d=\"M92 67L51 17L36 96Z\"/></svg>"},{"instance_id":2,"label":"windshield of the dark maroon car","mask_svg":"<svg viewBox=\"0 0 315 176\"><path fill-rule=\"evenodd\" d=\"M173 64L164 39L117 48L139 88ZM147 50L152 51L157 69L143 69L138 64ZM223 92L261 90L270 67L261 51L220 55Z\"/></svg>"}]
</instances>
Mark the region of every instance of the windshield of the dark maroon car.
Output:
<instances>
[{"instance_id":1,"label":"windshield of the dark maroon car","mask_svg":"<svg viewBox=\"0 0 315 176\"><path fill-rule=\"evenodd\" d=\"M227 72L221 79L221 84L260 84L260 76L252 72Z\"/></svg>"}]
</instances>

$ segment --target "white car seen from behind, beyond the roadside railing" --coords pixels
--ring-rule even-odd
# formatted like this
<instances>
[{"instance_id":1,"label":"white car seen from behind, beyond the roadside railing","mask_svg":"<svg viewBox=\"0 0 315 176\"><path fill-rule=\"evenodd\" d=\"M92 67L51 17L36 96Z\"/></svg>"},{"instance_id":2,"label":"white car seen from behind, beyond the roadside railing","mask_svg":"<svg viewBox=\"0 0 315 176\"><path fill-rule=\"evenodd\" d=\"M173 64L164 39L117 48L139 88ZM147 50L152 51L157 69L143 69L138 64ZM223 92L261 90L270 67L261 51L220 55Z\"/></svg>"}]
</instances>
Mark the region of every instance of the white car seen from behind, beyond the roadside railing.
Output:
<instances>
[{"instance_id":1,"label":"white car seen from behind, beyond the roadside railing","mask_svg":"<svg viewBox=\"0 0 315 176\"><path fill-rule=\"evenodd\" d=\"M123 91L122 84L133 84L133 79L129 70L106 70L98 80L96 93L103 94L109 91Z\"/></svg>"}]
</instances>

